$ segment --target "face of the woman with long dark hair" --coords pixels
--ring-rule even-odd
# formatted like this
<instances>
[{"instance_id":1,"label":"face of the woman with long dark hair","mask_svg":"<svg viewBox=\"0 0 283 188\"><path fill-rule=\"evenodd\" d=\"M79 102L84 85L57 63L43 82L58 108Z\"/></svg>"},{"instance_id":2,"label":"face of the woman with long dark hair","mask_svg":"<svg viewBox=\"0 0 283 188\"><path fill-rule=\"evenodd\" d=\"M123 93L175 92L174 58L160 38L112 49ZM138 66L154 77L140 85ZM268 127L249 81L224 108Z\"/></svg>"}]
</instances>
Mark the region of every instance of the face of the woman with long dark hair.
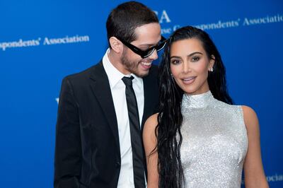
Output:
<instances>
[{"instance_id":1,"label":"face of the woman with long dark hair","mask_svg":"<svg viewBox=\"0 0 283 188\"><path fill-rule=\"evenodd\" d=\"M209 90L207 76L214 64L196 38L178 40L171 45L171 73L178 86L188 95Z\"/></svg>"}]
</instances>

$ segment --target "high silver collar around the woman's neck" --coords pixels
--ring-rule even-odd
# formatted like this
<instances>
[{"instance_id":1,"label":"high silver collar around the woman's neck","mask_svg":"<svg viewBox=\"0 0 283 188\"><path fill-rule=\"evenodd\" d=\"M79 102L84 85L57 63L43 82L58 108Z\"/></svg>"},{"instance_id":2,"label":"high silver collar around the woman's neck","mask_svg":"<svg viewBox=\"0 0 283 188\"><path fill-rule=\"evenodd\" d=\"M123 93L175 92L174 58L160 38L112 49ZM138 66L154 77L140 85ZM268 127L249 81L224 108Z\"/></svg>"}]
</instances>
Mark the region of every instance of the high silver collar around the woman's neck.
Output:
<instances>
[{"instance_id":1,"label":"high silver collar around the woman's neck","mask_svg":"<svg viewBox=\"0 0 283 188\"><path fill-rule=\"evenodd\" d=\"M210 90L198 95L183 95L182 107L185 108L202 108L212 104L214 97Z\"/></svg>"}]
</instances>

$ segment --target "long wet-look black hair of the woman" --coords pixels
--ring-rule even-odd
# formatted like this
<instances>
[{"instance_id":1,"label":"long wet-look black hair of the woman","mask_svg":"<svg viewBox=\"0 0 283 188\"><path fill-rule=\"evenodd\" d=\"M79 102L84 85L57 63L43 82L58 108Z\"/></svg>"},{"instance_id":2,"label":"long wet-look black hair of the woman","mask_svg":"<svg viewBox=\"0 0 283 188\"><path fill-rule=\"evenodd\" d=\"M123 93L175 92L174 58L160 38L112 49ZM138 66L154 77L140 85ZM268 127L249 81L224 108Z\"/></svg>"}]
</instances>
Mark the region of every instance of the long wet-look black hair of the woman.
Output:
<instances>
[{"instance_id":1,"label":"long wet-look black hair of the woman","mask_svg":"<svg viewBox=\"0 0 283 188\"><path fill-rule=\"evenodd\" d=\"M184 92L171 77L170 49L173 42L190 38L196 38L202 42L202 47L209 59L212 59L212 55L215 57L214 71L209 71L207 78L212 95L217 100L233 104L226 88L224 64L209 35L203 30L192 26L175 30L164 49L158 76L160 96L158 125L156 127L156 149L158 152L159 187L162 188L182 187L184 184L183 168L180 160L180 146L182 143L180 127L183 122L181 102Z\"/></svg>"}]
</instances>

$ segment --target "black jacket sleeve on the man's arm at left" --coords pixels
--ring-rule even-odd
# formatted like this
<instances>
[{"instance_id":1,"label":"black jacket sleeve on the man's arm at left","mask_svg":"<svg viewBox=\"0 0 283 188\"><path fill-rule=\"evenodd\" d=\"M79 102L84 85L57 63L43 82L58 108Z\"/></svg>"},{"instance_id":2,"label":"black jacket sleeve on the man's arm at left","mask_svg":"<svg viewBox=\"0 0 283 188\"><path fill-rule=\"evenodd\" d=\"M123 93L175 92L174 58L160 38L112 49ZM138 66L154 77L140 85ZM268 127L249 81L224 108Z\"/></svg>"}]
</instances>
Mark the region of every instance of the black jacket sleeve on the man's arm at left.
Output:
<instances>
[{"instance_id":1,"label":"black jacket sleeve on the man's arm at left","mask_svg":"<svg viewBox=\"0 0 283 188\"><path fill-rule=\"evenodd\" d=\"M68 78L62 81L56 124L54 187L79 187L81 136L79 105Z\"/></svg>"}]
</instances>

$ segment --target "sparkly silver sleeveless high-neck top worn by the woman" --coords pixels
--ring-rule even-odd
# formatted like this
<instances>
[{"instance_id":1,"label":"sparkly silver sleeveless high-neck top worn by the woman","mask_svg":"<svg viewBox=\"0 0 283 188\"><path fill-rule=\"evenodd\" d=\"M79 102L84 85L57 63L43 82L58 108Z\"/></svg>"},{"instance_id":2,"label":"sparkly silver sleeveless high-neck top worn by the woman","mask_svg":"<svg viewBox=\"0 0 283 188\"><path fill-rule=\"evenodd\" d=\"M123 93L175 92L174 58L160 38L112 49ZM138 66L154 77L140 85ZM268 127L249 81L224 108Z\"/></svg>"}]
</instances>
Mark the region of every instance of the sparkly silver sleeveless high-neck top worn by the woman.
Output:
<instances>
[{"instance_id":1,"label":"sparkly silver sleeveless high-neck top worn by the woman","mask_svg":"<svg viewBox=\"0 0 283 188\"><path fill-rule=\"evenodd\" d=\"M183 95L180 154L185 187L241 187L248 149L241 106L212 93Z\"/></svg>"}]
</instances>

